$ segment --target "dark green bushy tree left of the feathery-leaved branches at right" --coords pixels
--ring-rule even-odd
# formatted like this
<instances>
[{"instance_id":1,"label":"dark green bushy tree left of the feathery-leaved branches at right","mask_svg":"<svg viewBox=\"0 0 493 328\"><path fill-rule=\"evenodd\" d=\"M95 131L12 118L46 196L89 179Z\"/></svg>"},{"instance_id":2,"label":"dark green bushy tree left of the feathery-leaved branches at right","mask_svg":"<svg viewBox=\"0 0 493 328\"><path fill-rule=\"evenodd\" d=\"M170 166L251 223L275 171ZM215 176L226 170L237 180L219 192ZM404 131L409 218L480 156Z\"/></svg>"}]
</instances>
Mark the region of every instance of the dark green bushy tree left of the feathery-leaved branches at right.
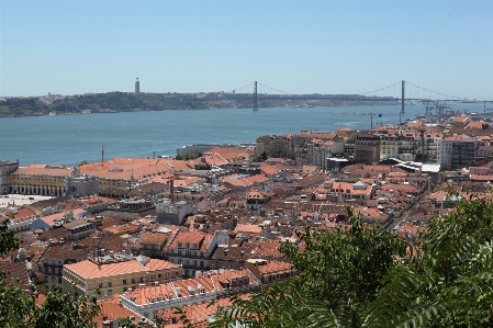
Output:
<instances>
[{"instance_id":1,"label":"dark green bushy tree left of the feathery-leaved branches at right","mask_svg":"<svg viewBox=\"0 0 493 328\"><path fill-rule=\"evenodd\" d=\"M273 284L250 301L234 298L213 326L239 320L248 327L322 327L321 323L344 317L359 325L358 309L376 299L383 276L396 265L395 256L406 257L407 245L386 230L363 225L360 214L348 211L350 230L323 234L306 226L299 233L303 251L289 242L281 246L298 278Z\"/></svg>"}]
</instances>

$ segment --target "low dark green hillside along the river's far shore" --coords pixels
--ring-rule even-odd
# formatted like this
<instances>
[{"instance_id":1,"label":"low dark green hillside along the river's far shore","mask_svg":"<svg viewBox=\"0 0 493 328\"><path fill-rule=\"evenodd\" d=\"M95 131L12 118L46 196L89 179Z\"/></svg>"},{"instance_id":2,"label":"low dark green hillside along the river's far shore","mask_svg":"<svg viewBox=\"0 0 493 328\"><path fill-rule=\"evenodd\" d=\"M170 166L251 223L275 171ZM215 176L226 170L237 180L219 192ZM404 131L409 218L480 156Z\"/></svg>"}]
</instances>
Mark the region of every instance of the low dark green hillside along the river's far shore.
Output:
<instances>
[{"instance_id":1,"label":"low dark green hillside along the river's far shore","mask_svg":"<svg viewBox=\"0 0 493 328\"><path fill-rule=\"evenodd\" d=\"M287 100L258 99L259 108L274 106L344 106L368 104L356 100ZM374 102L371 102L374 104ZM379 104L395 104L394 101ZM0 117L32 116L68 113L101 113L130 111L164 111L164 110L206 110L253 108L248 94L222 93L139 93L109 92L88 95L42 97L42 98L7 98L0 100Z\"/></svg>"}]
</instances>

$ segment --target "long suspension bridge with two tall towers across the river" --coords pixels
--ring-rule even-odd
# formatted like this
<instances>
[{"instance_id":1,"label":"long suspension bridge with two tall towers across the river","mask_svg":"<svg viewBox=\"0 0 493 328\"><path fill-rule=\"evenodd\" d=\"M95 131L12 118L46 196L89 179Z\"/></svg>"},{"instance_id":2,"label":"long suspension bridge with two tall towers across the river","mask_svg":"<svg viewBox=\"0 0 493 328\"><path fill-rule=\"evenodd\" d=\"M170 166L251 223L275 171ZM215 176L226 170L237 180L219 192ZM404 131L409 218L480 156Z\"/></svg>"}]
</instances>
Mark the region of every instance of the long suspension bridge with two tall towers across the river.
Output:
<instances>
[{"instance_id":1,"label":"long suspension bridge with two tall towers across the river","mask_svg":"<svg viewBox=\"0 0 493 328\"><path fill-rule=\"evenodd\" d=\"M388 94L388 95L385 95ZM389 95L390 94L390 95ZM449 108L447 104L455 103L483 103L486 111L486 103L493 103L493 100L468 99L463 97L450 95L442 92L434 91L411 83L408 81L397 81L393 84L372 90L360 94L294 94L276 88L271 88L258 81L254 81L238 89L223 94L223 99L246 101L253 104L254 111L258 109L259 101L262 100L326 100L326 101L358 101L358 102L400 102L401 114L405 113L406 102L419 102L426 108L426 115L433 115L433 111L437 116L446 114ZM212 97L198 98L195 101L213 101L217 100Z\"/></svg>"}]
</instances>

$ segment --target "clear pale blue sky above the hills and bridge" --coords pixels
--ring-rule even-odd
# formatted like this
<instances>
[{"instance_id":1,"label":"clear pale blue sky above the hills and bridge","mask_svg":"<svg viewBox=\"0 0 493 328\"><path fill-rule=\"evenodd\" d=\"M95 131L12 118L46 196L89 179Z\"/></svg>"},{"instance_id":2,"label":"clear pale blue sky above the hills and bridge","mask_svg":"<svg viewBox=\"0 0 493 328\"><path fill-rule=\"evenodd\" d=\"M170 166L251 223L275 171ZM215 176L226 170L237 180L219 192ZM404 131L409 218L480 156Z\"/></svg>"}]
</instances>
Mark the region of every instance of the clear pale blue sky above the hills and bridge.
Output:
<instances>
[{"instance_id":1,"label":"clear pale blue sky above the hills and bridge","mask_svg":"<svg viewBox=\"0 0 493 328\"><path fill-rule=\"evenodd\" d=\"M491 0L0 0L0 95L133 91L138 77L144 92L407 80L493 99Z\"/></svg>"}]
</instances>

